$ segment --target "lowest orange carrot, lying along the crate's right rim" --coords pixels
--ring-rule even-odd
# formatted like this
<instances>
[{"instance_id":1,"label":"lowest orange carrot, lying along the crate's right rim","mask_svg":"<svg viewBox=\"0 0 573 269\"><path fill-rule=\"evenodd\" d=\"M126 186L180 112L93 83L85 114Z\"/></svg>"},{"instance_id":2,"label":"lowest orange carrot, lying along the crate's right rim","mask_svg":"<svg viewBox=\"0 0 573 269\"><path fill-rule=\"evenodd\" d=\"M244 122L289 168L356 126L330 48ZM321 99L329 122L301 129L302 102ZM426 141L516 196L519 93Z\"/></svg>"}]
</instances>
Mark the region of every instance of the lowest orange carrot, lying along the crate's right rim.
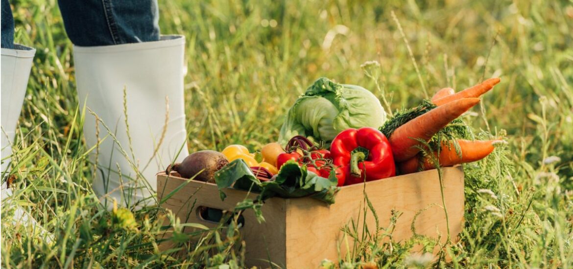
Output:
<instances>
[{"instance_id":1,"label":"lowest orange carrot, lying along the crate's right rim","mask_svg":"<svg viewBox=\"0 0 573 269\"><path fill-rule=\"evenodd\" d=\"M493 142L498 140L488 140L488 141L471 141L471 140L457 140L461 149L461 156L456 152L456 147L452 142L443 143L438 152L434 152L434 155L438 156L438 163L440 167L449 167L456 164L472 163L473 161L479 161L484 159L489 153L492 153L494 147ZM400 171L403 174L418 172L419 157L413 157L398 164ZM435 165L432 163L430 158L425 157L423 160L424 171L434 169Z\"/></svg>"}]
</instances>

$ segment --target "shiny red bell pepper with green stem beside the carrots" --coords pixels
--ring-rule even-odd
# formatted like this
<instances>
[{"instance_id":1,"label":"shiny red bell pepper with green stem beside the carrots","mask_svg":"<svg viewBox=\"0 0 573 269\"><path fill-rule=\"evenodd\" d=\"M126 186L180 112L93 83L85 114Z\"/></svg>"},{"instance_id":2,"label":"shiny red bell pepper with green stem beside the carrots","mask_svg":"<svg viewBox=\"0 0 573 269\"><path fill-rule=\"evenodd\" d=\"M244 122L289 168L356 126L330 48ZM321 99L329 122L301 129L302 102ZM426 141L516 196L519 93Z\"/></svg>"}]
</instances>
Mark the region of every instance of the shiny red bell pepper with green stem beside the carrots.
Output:
<instances>
[{"instance_id":1,"label":"shiny red bell pepper with green stem beside the carrots","mask_svg":"<svg viewBox=\"0 0 573 269\"><path fill-rule=\"evenodd\" d=\"M390 143L374 128L344 130L332 140L330 152L333 164L342 168L346 185L396 175Z\"/></svg>"}]
</instances>

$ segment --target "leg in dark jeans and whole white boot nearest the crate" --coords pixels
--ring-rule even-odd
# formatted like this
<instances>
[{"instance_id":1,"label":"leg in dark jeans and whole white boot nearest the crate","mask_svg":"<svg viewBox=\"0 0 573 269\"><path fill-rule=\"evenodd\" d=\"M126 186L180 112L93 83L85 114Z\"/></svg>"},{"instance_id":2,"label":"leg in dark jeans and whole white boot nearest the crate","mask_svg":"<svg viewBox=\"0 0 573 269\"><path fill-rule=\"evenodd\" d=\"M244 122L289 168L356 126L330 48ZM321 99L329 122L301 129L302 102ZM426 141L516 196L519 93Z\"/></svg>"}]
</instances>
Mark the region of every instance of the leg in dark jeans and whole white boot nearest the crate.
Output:
<instances>
[{"instance_id":1,"label":"leg in dark jeans and whole white boot nearest the crate","mask_svg":"<svg viewBox=\"0 0 573 269\"><path fill-rule=\"evenodd\" d=\"M187 156L185 38L159 36L156 1L58 3L74 43L79 102L97 115L84 123L88 148L98 145L93 189L108 208L112 199L152 204L156 173Z\"/></svg>"}]
</instances>

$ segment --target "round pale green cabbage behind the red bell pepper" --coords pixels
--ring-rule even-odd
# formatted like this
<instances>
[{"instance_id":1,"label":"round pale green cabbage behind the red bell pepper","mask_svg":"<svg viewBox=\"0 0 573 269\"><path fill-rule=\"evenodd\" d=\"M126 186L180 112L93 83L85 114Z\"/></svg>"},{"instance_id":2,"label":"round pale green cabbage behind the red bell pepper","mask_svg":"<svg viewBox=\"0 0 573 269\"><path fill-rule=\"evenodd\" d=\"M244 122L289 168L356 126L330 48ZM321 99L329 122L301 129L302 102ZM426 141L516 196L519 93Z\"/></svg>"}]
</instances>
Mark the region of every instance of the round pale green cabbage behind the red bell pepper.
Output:
<instances>
[{"instance_id":1,"label":"round pale green cabbage behind the red bell pepper","mask_svg":"<svg viewBox=\"0 0 573 269\"><path fill-rule=\"evenodd\" d=\"M328 142L348 128L378 129L385 121L386 112L369 90L323 77L289 109L278 143L285 145L297 135Z\"/></svg>"}]
</instances>

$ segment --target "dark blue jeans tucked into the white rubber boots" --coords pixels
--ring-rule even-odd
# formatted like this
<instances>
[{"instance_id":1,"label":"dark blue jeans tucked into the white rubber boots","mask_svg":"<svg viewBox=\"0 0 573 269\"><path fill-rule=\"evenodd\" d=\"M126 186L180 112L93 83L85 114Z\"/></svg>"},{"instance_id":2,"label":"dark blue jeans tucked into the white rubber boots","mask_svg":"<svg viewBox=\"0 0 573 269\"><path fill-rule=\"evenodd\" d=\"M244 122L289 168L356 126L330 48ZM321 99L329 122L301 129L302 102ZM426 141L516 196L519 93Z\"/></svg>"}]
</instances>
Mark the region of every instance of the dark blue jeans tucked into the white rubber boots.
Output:
<instances>
[{"instance_id":1,"label":"dark blue jeans tucked into the white rubber boots","mask_svg":"<svg viewBox=\"0 0 573 269\"><path fill-rule=\"evenodd\" d=\"M157 0L58 0L69 39L77 46L159 40ZM17 8L17 6L16 6ZM2 0L2 48L14 48L14 18Z\"/></svg>"}]
</instances>

